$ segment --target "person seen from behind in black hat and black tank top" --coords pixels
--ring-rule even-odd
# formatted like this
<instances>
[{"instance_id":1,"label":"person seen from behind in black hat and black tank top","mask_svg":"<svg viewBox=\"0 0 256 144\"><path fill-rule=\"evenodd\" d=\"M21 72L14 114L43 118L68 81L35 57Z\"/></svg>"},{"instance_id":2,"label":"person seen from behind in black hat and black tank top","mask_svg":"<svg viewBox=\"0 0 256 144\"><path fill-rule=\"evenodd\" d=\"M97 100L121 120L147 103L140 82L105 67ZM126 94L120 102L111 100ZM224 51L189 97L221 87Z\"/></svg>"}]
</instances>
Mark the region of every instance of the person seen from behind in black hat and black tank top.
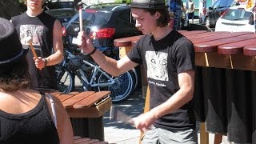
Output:
<instances>
[{"instance_id":1,"label":"person seen from behind in black hat and black tank top","mask_svg":"<svg viewBox=\"0 0 256 144\"><path fill-rule=\"evenodd\" d=\"M71 144L62 102L30 89L26 51L13 24L0 18L0 143Z\"/></svg>"}]
</instances>

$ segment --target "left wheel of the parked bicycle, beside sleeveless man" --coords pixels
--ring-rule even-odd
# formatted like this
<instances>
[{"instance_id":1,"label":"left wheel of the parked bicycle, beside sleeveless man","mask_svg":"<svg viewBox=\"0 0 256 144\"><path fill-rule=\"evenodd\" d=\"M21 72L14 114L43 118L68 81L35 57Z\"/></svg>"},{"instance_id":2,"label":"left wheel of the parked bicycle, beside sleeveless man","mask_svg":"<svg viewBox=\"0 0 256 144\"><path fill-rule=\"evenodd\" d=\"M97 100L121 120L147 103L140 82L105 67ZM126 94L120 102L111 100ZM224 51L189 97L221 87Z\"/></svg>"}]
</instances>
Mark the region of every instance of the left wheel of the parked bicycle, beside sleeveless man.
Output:
<instances>
[{"instance_id":1,"label":"left wheel of the parked bicycle, beside sleeveless man","mask_svg":"<svg viewBox=\"0 0 256 144\"><path fill-rule=\"evenodd\" d=\"M61 66L56 66L58 90L63 93L70 93L74 90L74 74L64 70Z\"/></svg>"}]
</instances>

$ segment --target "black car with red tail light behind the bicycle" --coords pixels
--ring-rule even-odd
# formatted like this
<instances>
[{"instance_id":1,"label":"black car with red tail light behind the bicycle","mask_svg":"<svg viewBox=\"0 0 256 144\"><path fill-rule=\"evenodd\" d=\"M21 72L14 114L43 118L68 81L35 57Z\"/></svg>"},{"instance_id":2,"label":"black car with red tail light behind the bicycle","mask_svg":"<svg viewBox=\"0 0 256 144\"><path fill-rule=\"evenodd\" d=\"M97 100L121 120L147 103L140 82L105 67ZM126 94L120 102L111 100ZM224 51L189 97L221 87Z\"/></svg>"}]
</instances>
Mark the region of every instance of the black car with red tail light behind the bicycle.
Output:
<instances>
[{"instance_id":1,"label":"black car with red tail light behind the bicycle","mask_svg":"<svg viewBox=\"0 0 256 144\"><path fill-rule=\"evenodd\" d=\"M83 30L99 50L114 47L114 39L142 34L135 27L130 7L126 4L102 4L90 6L82 12ZM69 49L77 49L79 14L75 14L65 26L64 42Z\"/></svg>"}]
</instances>

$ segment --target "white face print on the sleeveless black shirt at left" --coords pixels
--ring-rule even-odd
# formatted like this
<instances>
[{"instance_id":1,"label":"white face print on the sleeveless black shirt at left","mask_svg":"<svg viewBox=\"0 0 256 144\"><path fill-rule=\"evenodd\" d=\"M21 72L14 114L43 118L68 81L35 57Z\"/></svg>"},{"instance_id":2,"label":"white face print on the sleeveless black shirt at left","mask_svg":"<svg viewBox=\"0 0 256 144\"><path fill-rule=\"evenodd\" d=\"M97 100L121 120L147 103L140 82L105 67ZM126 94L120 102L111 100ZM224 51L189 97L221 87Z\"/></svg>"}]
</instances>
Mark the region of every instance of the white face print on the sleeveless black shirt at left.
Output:
<instances>
[{"instance_id":1,"label":"white face print on the sleeveless black shirt at left","mask_svg":"<svg viewBox=\"0 0 256 144\"><path fill-rule=\"evenodd\" d=\"M38 25L22 25L20 26L20 39L22 45L30 45L26 42L27 37L33 39L33 46L41 46L42 43L43 26Z\"/></svg>"}]
</instances>

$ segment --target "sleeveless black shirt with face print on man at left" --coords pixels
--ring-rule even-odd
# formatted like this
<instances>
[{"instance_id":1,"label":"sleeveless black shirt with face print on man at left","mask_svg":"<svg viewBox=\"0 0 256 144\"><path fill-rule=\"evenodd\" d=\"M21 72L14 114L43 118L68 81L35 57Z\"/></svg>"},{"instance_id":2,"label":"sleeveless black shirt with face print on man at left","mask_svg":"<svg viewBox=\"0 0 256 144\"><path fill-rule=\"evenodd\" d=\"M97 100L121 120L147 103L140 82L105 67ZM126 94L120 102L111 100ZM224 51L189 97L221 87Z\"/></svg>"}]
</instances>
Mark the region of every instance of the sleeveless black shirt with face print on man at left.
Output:
<instances>
[{"instance_id":1,"label":"sleeveless black shirt with face print on man at left","mask_svg":"<svg viewBox=\"0 0 256 144\"><path fill-rule=\"evenodd\" d=\"M26 38L33 39L32 45L38 57L46 58L53 52L53 30L55 18L42 12L37 17L30 17L26 13L11 18L18 32L23 48L30 45ZM58 89L54 66L46 66L38 70L34 65L33 53L28 51L29 72L32 88Z\"/></svg>"}]
</instances>

